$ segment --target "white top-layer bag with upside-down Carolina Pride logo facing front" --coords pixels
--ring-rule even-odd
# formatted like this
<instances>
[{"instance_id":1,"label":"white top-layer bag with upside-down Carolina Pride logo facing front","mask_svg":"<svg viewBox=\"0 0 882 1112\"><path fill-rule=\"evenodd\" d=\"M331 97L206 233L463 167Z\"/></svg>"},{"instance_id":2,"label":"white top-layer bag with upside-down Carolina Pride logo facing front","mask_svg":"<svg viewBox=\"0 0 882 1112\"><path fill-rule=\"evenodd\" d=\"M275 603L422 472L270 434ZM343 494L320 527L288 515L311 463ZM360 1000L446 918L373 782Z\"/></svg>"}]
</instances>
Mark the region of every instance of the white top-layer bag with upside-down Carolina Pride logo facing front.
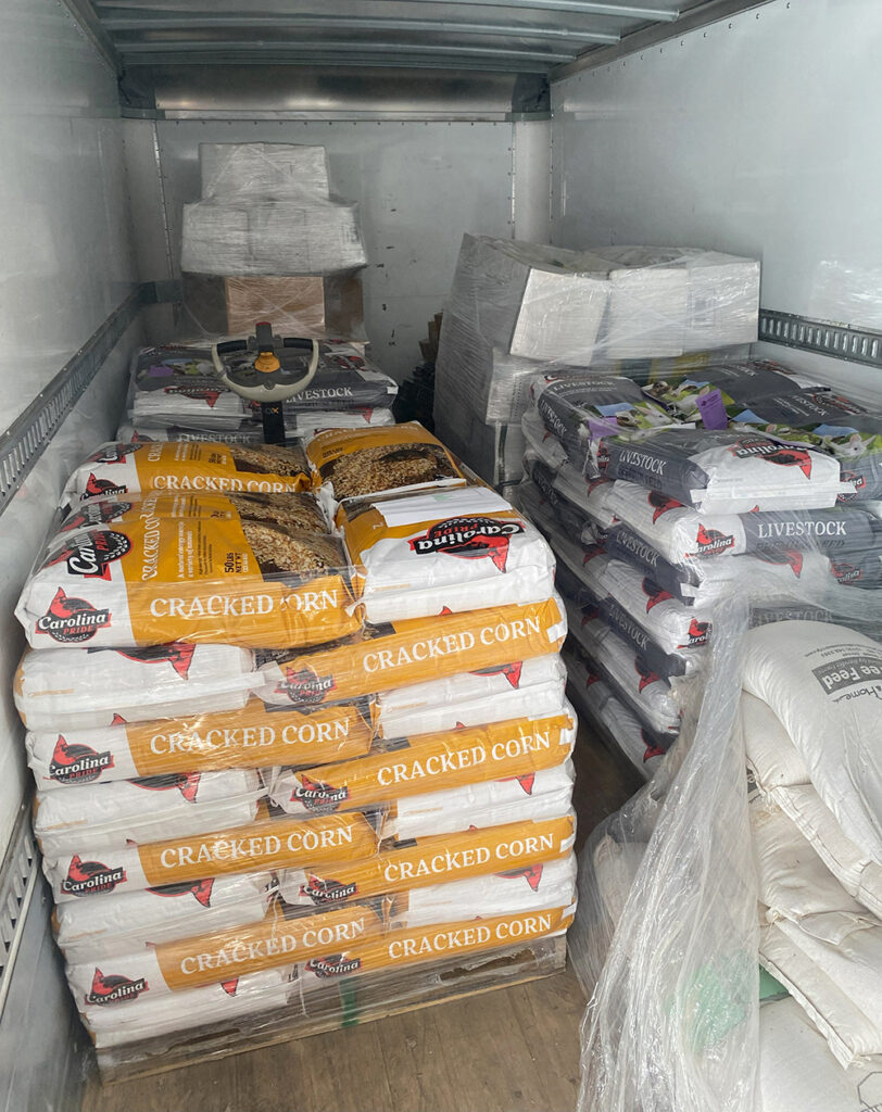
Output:
<instances>
[{"instance_id":1,"label":"white top-layer bag with upside-down Carolina Pride logo facing front","mask_svg":"<svg viewBox=\"0 0 882 1112\"><path fill-rule=\"evenodd\" d=\"M337 515L368 622L430 617L554 593L554 556L487 487L349 503Z\"/></svg>"}]
</instances>

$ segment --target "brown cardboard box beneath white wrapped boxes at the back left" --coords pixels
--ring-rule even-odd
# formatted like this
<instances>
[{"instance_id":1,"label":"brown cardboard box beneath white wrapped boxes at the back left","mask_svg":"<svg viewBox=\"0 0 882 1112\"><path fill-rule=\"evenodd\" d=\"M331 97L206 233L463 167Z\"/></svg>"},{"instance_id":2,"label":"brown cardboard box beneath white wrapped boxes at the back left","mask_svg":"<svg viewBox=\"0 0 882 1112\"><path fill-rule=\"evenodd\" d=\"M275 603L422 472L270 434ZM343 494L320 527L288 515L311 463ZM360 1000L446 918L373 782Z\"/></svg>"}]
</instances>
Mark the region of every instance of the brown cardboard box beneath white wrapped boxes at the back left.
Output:
<instances>
[{"instance_id":1,"label":"brown cardboard box beneath white wrapped boxes at the back left","mask_svg":"<svg viewBox=\"0 0 882 1112\"><path fill-rule=\"evenodd\" d=\"M298 277L185 274L184 304L215 335L252 332L269 320L284 336L364 340L361 277L357 271Z\"/></svg>"}]
</instances>

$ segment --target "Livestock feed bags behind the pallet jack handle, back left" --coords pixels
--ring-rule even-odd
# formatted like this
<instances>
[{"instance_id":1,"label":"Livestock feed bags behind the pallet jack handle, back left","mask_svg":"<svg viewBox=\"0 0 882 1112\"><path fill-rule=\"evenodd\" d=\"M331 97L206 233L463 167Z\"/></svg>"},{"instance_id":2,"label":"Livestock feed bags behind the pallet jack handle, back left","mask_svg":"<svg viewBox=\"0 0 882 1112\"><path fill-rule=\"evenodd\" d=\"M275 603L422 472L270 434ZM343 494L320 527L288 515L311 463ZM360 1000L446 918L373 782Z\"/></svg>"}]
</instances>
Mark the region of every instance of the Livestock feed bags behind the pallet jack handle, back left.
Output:
<instances>
[{"instance_id":1,"label":"Livestock feed bags behind the pallet jack handle, back left","mask_svg":"<svg viewBox=\"0 0 882 1112\"><path fill-rule=\"evenodd\" d=\"M323 341L316 377L284 403L285 431L309 439L325 428L392 425L397 393L395 380L365 357L364 345ZM119 440L256 444L262 436L257 404L220 381L204 344L141 348L132 356Z\"/></svg>"}]
</instances>

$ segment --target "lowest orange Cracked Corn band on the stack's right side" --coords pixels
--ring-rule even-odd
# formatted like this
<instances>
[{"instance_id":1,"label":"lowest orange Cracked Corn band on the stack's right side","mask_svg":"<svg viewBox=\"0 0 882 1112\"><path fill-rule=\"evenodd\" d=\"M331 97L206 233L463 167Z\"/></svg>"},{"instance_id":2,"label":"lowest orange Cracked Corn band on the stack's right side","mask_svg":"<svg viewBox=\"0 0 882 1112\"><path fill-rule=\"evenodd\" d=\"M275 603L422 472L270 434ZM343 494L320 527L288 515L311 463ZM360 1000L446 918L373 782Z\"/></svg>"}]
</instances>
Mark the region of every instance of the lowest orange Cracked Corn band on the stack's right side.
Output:
<instances>
[{"instance_id":1,"label":"lowest orange Cracked Corn band on the stack's right side","mask_svg":"<svg viewBox=\"0 0 882 1112\"><path fill-rule=\"evenodd\" d=\"M562 934L573 922L574 913L574 907L557 907L552 911L393 931L371 941L329 950L326 956L307 961L303 970L320 979L351 976L355 973L376 973L419 962L516 946Z\"/></svg>"}]
</instances>

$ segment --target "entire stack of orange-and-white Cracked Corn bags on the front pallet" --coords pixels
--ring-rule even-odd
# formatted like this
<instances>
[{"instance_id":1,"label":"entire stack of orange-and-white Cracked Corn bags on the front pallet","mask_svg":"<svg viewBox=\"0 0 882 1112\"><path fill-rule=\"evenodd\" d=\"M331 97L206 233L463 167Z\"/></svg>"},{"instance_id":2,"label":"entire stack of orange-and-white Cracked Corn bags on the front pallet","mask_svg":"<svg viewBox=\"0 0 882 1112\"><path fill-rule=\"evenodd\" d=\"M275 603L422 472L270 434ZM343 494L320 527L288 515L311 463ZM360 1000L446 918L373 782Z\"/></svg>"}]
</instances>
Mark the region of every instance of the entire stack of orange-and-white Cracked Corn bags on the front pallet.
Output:
<instances>
[{"instance_id":1,"label":"entire stack of orange-and-white Cracked Corn bags on the front pallet","mask_svg":"<svg viewBox=\"0 0 882 1112\"><path fill-rule=\"evenodd\" d=\"M66 496L14 696L99 1062L565 932L554 558L438 440L105 445Z\"/></svg>"}]
</instances>

